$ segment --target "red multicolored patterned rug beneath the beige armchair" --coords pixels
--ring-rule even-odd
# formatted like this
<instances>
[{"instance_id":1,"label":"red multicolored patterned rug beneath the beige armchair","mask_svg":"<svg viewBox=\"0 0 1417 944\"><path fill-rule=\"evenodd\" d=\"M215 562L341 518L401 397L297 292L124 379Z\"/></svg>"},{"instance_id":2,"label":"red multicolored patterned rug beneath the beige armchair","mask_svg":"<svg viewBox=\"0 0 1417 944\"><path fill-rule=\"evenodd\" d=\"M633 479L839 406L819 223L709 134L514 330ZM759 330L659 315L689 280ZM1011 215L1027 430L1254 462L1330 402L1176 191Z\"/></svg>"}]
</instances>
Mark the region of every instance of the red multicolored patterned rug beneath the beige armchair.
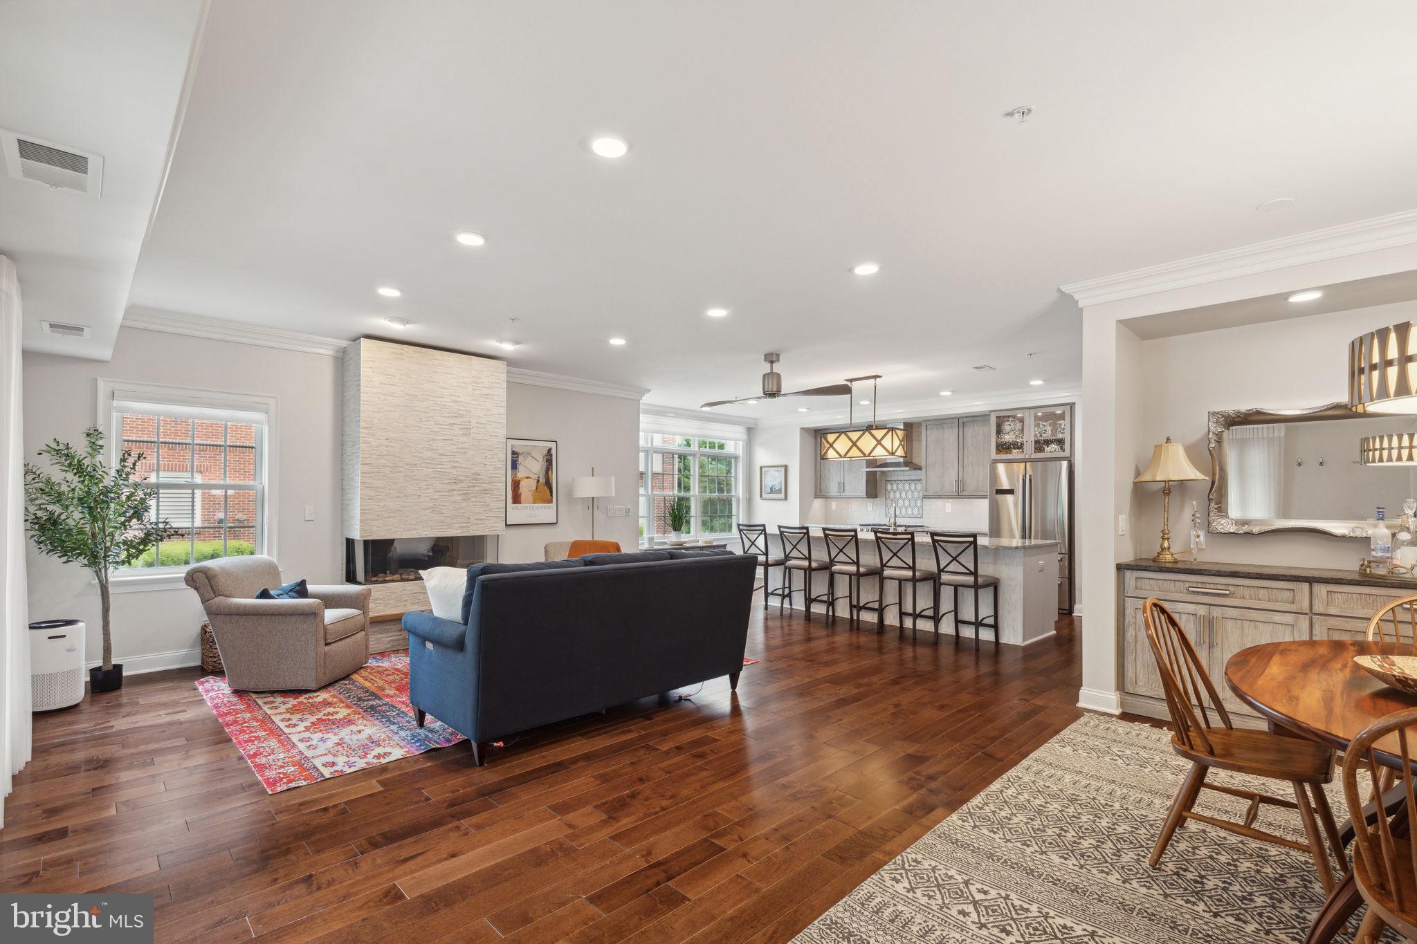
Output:
<instances>
[{"instance_id":1,"label":"red multicolored patterned rug beneath the beige armchair","mask_svg":"<svg viewBox=\"0 0 1417 944\"><path fill-rule=\"evenodd\" d=\"M197 679L197 688L266 793L465 740L432 715L424 727L414 723L407 650L371 655L315 692L234 692L221 675Z\"/></svg>"}]
</instances>

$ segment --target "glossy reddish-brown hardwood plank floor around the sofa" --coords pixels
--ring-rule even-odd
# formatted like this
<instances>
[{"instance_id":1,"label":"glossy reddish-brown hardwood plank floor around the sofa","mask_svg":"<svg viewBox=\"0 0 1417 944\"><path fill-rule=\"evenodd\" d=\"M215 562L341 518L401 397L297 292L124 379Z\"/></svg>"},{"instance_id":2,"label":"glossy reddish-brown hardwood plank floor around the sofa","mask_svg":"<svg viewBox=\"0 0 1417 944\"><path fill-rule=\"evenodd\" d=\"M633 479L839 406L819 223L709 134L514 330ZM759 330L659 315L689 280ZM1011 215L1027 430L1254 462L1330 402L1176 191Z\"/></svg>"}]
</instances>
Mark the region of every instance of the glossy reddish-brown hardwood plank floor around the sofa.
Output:
<instances>
[{"instance_id":1,"label":"glossy reddish-brown hardwood plank floor around the sofa","mask_svg":"<svg viewBox=\"0 0 1417 944\"><path fill-rule=\"evenodd\" d=\"M666 623L666 631L672 630ZM645 699L268 795L197 669L35 718L6 892L156 897L159 941L784 941L1066 727L1027 648L754 613L737 698Z\"/></svg>"}]
</instances>

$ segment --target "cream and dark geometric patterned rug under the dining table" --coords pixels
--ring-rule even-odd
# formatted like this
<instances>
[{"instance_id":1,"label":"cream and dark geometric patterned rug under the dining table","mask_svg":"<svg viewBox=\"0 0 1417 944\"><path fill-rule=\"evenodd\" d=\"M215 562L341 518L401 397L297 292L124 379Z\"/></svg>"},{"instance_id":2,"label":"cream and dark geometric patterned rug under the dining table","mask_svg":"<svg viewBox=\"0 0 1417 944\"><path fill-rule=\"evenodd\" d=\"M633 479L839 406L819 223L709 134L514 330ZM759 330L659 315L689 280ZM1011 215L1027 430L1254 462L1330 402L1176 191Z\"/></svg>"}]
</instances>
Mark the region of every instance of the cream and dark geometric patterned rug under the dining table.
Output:
<instances>
[{"instance_id":1,"label":"cream and dark geometric patterned rug under the dining table","mask_svg":"<svg viewBox=\"0 0 1417 944\"><path fill-rule=\"evenodd\" d=\"M1306 853L1187 822L1161 865L1146 865L1189 769L1169 742L1169 732L1148 725L1084 716L870 876L795 941L1302 941L1323 904ZM1267 788L1264 781L1220 770L1207 783ZM1284 795L1288 785L1278 785L1282 791L1274 794ZM1338 777L1329 797L1342 822ZM1197 811L1229 818L1241 818L1244 807L1243 800L1213 790L1202 791L1196 804ZM1292 810L1265 807L1258 825L1304 839ZM1348 931L1356 931L1356 921Z\"/></svg>"}]
</instances>

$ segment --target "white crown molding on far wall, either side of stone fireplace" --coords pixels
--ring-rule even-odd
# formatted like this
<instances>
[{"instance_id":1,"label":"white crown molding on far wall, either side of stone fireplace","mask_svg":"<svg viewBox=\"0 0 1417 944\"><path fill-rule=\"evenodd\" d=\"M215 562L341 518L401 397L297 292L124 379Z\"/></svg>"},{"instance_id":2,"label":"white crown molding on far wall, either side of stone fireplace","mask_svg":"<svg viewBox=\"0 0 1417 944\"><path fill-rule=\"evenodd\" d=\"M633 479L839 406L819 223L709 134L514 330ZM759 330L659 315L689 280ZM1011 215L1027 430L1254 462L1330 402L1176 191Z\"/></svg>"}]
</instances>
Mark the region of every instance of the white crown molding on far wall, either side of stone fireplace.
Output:
<instances>
[{"instance_id":1,"label":"white crown molding on far wall, either side of stone fireplace","mask_svg":"<svg viewBox=\"0 0 1417 944\"><path fill-rule=\"evenodd\" d=\"M129 307L123 314L120 327L136 328L139 331L162 331L163 334L184 334L193 338L208 341L228 341L231 344L254 344L279 351L299 351L302 354L319 354L322 357L344 357L344 350L353 341L327 338L319 334L302 334L285 328L269 328L244 321L228 321L227 318L213 318L204 314L188 314L186 311L164 311L162 309ZM397 341L395 341L397 344ZM468 351L468 354L472 354ZM476 354L475 357L483 357ZM597 396L619 396L622 399L639 401L648 389L639 386L622 386L619 384L602 384L601 381L585 381L578 376L561 376L560 374L543 374L541 371L526 371L519 367L507 367L507 384L526 384L530 386L550 386L558 391L574 391L577 393L594 393Z\"/></svg>"}]
</instances>

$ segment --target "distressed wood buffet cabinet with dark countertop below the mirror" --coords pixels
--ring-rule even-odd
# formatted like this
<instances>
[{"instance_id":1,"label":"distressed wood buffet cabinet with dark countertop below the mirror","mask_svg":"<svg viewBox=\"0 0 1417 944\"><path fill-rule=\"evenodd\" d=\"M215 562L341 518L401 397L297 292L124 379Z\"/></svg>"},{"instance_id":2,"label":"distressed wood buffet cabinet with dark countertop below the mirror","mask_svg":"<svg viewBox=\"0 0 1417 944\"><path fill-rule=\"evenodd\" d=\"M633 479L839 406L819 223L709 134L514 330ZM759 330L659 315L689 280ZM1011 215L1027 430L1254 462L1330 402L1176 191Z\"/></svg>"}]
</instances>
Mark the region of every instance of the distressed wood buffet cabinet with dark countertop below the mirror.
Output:
<instances>
[{"instance_id":1,"label":"distressed wood buffet cabinet with dark countertop below the mirror","mask_svg":"<svg viewBox=\"0 0 1417 944\"><path fill-rule=\"evenodd\" d=\"M1182 560L1117 565L1122 710L1168 718L1156 660L1146 643L1142 603L1162 600L1176 614L1237 723L1258 726L1251 708L1226 686L1231 655L1261 643L1360 640L1384 603L1417 593L1417 580L1356 570Z\"/></svg>"}]
</instances>

